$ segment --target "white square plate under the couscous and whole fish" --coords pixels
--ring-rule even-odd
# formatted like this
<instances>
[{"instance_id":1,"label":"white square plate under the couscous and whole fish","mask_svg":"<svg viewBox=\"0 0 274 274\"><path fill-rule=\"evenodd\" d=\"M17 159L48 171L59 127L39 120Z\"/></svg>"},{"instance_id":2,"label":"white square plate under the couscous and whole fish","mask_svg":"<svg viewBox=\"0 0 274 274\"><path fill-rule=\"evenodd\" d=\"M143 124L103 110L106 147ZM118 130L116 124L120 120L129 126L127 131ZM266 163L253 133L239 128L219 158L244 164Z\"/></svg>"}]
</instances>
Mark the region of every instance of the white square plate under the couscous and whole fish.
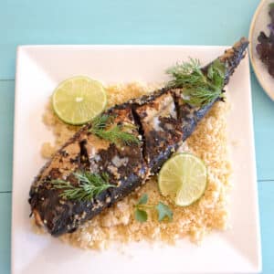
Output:
<instances>
[{"instance_id":1,"label":"white square plate under the couscous and whole fish","mask_svg":"<svg viewBox=\"0 0 274 274\"><path fill-rule=\"evenodd\" d=\"M33 233L28 218L28 191L45 163L41 144L52 138L42 122L48 97L58 83L84 74L105 83L161 82L165 68L188 57L204 64L226 47L184 46L24 46L16 65L12 273L235 273L261 269L258 193L253 140L248 57L229 82L232 110L228 117L233 147L234 184L231 225L213 232L200 247L187 239L175 247L132 243L106 251L83 251L57 238Z\"/></svg>"}]
</instances>

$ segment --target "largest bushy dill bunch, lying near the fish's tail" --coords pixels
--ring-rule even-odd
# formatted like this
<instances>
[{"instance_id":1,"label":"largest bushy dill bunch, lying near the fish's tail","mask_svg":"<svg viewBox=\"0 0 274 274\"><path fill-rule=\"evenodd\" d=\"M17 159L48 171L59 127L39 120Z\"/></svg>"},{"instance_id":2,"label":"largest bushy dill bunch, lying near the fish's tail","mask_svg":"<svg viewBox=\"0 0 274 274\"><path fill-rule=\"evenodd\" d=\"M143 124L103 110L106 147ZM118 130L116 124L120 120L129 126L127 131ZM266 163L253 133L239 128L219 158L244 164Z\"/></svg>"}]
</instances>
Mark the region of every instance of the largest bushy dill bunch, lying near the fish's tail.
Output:
<instances>
[{"instance_id":1,"label":"largest bushy dill bunch, lying near the fish's tail","mask_svg":"<svg viewBox=\"0 0 274 274\"><path fill-rule=\"evenodd\" d=\"M174 79L168 83L170 88L182 89L182 98L190 105L201 107L223 97L225 83L225 64L216 59L207 69L206 74L200 68L198 59L168 68L166 73Z\"/></svg>"}]
</instances>

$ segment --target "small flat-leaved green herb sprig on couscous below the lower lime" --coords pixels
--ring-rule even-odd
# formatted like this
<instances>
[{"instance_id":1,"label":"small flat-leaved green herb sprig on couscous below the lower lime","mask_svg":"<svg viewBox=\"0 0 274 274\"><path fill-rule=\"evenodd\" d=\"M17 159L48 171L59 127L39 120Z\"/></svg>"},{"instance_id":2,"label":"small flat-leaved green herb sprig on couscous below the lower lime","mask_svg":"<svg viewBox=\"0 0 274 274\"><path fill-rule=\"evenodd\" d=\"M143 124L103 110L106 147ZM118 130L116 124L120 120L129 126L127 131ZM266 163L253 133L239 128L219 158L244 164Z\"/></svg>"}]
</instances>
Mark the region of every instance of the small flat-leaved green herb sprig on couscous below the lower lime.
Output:
<instances>
[{"instance_id":1,"label":"small flat-leaved green herb sprig on couscous below the lower lime","mask_svg":"<svg viewBox=\"0 0 274 274\"><path fill-rule=\"evenodd\" d=\"M162 222L164 219L168 219L169 221L173 219L173 212L168 205L164 205L162 202L159 202L157 205L147 205L147 202L148 195L143 194L137 205L135 205L134 216L138 222L143 223L147 221L148 215L146 210L156 210L159 222Z\"/></svg>"}]
</instances>

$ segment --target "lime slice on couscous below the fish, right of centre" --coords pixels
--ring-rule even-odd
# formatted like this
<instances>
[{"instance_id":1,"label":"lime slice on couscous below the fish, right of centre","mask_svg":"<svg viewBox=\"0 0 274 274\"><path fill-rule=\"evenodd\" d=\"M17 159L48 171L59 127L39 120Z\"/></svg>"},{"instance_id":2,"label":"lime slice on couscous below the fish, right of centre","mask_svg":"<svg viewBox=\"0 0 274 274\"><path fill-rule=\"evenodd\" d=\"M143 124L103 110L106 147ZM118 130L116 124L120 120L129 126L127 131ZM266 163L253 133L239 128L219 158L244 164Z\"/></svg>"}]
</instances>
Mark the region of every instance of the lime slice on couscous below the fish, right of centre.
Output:
<instances>
[{"instance_id":1,"label":"lime slice on couscous below the fish, right of centre","mask_svg":"<svg viewBox=\"0 0 274 274\"><path fill-rule=\"evenodd\" d=\"M190 153L178 153L170 158L158 176L162 195L169 195L175 205L186 206L197 201L205 193L205 163Z\"/></svg>"}]
</instances>

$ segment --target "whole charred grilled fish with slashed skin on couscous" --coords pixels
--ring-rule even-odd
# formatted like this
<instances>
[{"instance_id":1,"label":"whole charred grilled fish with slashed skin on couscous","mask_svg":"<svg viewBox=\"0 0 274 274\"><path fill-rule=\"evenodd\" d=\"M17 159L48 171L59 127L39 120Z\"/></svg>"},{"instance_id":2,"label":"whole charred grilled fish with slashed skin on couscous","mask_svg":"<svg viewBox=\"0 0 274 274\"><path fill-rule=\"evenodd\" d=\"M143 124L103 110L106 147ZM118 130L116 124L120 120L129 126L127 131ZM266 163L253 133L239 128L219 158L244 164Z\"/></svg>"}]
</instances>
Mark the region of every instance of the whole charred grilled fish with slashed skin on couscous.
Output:
<instances>
[{"instance_id":1,"label":"whole charred grilled fish with slashed skin on couscous","mask_svg":"<svg viewBox=\"0 0 274 274\"><path fill-rule=\"evenodd\" d=\"M219 58L225 65L225 85L240 60L248 40L241 38ZM202 68L206 73L210 64ZM181 87L183 88L183 87ZM216 100L219 100L218 98ZM161 168L163 163L191 135L197 123L216 100L194 107L182 100L180 89L164 88L152 95L116 105L104 114L114 117L113 125L126 126L140 142L121 144L100 139L82 127L42 168L30 189L29 204L37 226L52 236L74 232L81 224L129 195ZM77 185L75 173L108 174L109 187L91 199L68 199L53 180Z\"/></svg>"}]
</instances>

